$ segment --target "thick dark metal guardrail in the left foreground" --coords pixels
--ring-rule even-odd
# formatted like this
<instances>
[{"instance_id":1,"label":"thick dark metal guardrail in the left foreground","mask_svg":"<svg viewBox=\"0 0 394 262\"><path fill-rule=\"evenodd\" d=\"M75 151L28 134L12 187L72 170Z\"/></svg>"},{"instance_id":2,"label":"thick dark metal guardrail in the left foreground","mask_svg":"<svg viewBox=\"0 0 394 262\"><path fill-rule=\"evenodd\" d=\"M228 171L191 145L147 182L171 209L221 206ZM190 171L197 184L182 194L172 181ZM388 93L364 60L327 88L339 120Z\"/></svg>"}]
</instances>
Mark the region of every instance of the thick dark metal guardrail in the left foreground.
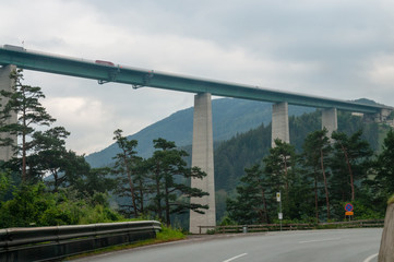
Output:
<instances>
[{"instance_id":1,"label":"thick dark metal guardrail in the left foreground","mask_svg":"<svg viewBox=\"0 0 394 262\"><path fill-rule=\"evenodd\" d=\"M51 261L155 238L159 230L156 221L0 229L0 261Z\"/></svg>"}]
</instances>

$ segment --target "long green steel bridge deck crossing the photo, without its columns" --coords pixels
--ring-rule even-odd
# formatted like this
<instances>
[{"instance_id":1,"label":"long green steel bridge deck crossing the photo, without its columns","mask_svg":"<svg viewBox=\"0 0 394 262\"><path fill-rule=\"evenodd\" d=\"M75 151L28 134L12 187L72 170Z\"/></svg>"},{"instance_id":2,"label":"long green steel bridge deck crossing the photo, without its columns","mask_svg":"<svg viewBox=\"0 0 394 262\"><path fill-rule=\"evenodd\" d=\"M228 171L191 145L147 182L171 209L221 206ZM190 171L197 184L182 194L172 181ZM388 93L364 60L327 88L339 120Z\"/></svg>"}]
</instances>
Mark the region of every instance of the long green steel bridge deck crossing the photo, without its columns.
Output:
<instances>
[{"instance_id":1,"label":"long green steel bridge deck crossing the photo, without its columns","mask_svg":"<svg viewBox=\"0 0 394 262\"><path fill-rule=\"evenodd\" d=\"M100 60L85 60L62 57L22 47L4 45L0 48L0 64L15 64L17 68L97 80L99 83L116 82L134 87L150 86L189 93L211 93L216 96L236 97L251 100L280 103L315 108L337 108L339 110L377 114L394 108L383 105L366 105L353 102L279 92L258 86L222 81L169 74L153 70L123 67Z\"/></svg>"}]
</instances>

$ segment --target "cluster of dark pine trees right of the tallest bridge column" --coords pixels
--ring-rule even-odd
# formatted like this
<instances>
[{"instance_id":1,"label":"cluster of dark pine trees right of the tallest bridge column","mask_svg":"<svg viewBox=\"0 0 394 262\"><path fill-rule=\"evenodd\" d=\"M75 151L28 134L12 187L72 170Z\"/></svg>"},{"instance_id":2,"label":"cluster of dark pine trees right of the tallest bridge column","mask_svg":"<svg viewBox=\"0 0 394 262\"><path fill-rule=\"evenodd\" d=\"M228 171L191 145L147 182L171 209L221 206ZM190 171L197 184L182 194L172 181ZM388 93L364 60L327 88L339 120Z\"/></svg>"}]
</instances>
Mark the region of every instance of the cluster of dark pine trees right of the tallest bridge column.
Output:
<instances>
[{"instance_id":1,"label":"cluster of dark pine trees right of the tallest bridge column","mask_svg":"<svg viewBox=\"0 0 394 262\"><path fill-rule=\"evenodd\" d=\"M383 218L393 193L394 132L389 131L383 150L374 155L362 131L351 135L326 130L307 135L302 151L275 141L276 146L244 169L232 198L227 198L225 223L277 222L276 193L282 194L283 218L289 222L346 219L344 206L355 206L353 219Z\"/></svg>"}]
</instances>

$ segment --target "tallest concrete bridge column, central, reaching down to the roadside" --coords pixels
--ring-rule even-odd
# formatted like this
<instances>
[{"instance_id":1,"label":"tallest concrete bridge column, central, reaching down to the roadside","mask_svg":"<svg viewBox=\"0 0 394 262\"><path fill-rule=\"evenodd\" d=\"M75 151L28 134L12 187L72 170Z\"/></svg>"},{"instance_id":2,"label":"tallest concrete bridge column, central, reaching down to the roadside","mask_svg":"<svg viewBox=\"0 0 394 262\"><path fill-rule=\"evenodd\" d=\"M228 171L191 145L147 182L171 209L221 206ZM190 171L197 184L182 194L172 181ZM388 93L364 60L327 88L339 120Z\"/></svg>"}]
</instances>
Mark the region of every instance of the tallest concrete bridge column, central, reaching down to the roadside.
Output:
<instances>
[{"instance_id":1,"label":"tallest concrete bridge column, central, reaching down to the roadside","mask_svg":"<svg viewBox=\"0 0 394 262\"><path fill-rule=\"evenodd\" d=\"M198 94L194 96L192 146L192 166L200 167L207 176L204 179L192 179L191 186L210 193L210 195L192 198L190 200L191 203L210 206L208 210L204 210L205 214L190 211L189 230L198 234L200 233L199 226L216 225L212 103L210 93ZM202 230L202 233L205 231L206 229Z\"/></svg>"}]
</instances>

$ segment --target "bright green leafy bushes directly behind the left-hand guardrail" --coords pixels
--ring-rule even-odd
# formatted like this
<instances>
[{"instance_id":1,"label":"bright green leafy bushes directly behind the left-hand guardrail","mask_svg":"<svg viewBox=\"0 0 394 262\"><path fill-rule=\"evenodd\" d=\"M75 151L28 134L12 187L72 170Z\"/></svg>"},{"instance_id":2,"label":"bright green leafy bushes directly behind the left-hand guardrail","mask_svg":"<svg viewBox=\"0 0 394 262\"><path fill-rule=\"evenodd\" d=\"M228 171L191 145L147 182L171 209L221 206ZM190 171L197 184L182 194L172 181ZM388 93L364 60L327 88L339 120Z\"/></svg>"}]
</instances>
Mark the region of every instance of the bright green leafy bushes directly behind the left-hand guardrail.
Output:
<instances>
[{"instance_id":1,"label":"bright green leafy bushes directly behind the left-hand guardrail","mask_svg":"<svg viewBox=\"0 0 394 262\"><path fill-rule=\"evenodd\" d=\"M0 205L0 228L58 226L118 222L124 219L110 210L106 194L80 199L73 190L51 193L43 183L22 186L14 198Z\"/></svg>"}]
</instances>

